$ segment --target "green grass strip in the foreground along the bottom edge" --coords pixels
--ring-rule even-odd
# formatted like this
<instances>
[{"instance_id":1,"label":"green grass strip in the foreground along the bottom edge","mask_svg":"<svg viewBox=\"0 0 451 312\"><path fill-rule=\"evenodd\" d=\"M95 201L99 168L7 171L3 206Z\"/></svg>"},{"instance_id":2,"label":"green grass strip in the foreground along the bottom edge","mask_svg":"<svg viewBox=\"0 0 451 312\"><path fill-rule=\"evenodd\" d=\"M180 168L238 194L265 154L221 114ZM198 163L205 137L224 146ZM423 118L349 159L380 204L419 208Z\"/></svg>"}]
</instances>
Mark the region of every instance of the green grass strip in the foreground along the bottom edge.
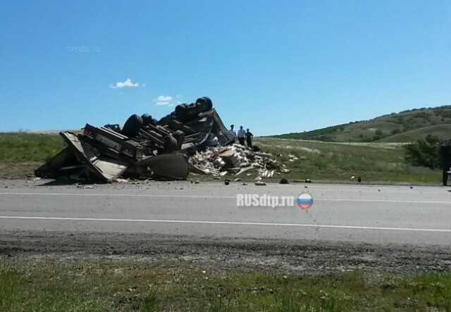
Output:
<instances>
[{"instance_id":1,"label":"green grass strip in the foreground along the bottom edge","mask_svg":"<svg viewBox=\"0 0 451 312\"><path fill-rule=\"evenodd\" d=\"M0 311L451 311L450 273L306 276L191 261L5 260Z\"/></svg>"}]
</instances>

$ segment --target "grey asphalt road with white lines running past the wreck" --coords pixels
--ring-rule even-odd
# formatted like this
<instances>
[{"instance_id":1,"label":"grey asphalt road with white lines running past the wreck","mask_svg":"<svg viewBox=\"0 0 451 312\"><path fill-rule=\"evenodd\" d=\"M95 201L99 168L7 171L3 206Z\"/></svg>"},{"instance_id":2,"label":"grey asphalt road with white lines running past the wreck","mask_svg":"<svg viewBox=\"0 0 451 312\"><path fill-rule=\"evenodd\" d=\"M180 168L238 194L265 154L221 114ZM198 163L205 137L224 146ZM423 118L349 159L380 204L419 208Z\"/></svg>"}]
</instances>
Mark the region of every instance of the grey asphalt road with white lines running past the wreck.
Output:
<instances>
[{"instance_id":1,"label":"grey asphalt road with white lines running past the wreck","mask_svg":"<svg viewBox=\"0 0 451 312\"><path fill-rule=\"evenodd\" d=\"M244 186L242 182L226 186L221 182L183 181L116 183L83 189L47 182L0 181L1 230L451 246L449 187ZM237 194L297 199L302 193L314 199L308 209L296 203L271 205L282 204L281 198L269 206L237 206Z\"/></svg>"}]
</instances>

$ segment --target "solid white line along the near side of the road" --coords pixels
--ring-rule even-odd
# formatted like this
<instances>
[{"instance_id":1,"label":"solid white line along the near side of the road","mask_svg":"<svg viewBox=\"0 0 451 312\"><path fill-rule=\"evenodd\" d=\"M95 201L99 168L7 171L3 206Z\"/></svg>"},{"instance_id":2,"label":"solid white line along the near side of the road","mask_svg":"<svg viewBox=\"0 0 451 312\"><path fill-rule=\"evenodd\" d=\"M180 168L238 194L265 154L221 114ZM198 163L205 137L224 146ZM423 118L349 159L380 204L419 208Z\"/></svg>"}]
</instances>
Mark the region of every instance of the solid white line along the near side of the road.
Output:
<instances>
[{"instance_id":1,"label":"solid white line along the near side of the road","mask_svg":"<svg viewBox=\"0 0 451 312\"><path fill-rule=\"evenodd\" d=\"M145 222L145 223L191 223L191 224L214 224L214 225L266 225L279 227L326 227L335 229L354 230L390 230L390 231L412 231L412 232L445 232L446 229L421 229L409 227L368 227L353 225L314 225L299 223L259 223L259 222L230 222L230 221L200 221L200 220L152 220L152 219L111 219L111 218L63 218L63 217L34 217L34 216L0 216L0 219L18 220L60 220L60 221L101 221L101 222Z\"/></svg>"}]
</instances>

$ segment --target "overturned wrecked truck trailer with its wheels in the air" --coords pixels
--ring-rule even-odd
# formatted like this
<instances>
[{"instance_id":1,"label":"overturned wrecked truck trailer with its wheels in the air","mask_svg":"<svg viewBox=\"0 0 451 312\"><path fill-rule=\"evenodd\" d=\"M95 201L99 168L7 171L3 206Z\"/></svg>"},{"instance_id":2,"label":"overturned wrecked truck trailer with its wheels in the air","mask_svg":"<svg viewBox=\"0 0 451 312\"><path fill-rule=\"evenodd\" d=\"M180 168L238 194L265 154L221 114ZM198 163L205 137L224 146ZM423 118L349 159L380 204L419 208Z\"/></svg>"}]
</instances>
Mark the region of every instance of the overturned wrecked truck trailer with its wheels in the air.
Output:
<instances>
[{"instance_id":1,"label":"overturned wrecked truck trailer with its wheels in the air","mask_svg":"<svg viewBox=\"0 0 451 312\"><path fill-rule=\"evenodd\" d=\"M67 146L35 170L37 177L111 182L118 177L185 180L188 157L208 146L233 143L209 97L180 104L160 120L132 115L119 125L60 132Z\"/></svg>"}]
</instances>

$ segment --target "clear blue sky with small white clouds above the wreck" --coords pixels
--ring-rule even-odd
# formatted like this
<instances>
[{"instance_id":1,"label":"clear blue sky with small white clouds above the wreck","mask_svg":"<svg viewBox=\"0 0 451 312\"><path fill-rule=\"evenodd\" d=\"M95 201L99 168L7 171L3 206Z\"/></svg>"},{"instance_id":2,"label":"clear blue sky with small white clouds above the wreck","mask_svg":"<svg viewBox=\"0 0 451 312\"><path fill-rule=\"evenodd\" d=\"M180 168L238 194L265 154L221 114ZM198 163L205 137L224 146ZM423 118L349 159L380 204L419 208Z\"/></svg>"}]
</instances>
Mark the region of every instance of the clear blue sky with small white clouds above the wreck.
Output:
<instances>
[{"instance_id":1,"label":"clear blue sky with small white clouds above the wreck","mask_svg":"<svg viewBox=\"0 0 451 312\"><path fill-rule=\"evenodd\" d=\"M451 1L1 1L0 131L161 118L254 135L451 104Z\"/></svg>"}]
</instances>

